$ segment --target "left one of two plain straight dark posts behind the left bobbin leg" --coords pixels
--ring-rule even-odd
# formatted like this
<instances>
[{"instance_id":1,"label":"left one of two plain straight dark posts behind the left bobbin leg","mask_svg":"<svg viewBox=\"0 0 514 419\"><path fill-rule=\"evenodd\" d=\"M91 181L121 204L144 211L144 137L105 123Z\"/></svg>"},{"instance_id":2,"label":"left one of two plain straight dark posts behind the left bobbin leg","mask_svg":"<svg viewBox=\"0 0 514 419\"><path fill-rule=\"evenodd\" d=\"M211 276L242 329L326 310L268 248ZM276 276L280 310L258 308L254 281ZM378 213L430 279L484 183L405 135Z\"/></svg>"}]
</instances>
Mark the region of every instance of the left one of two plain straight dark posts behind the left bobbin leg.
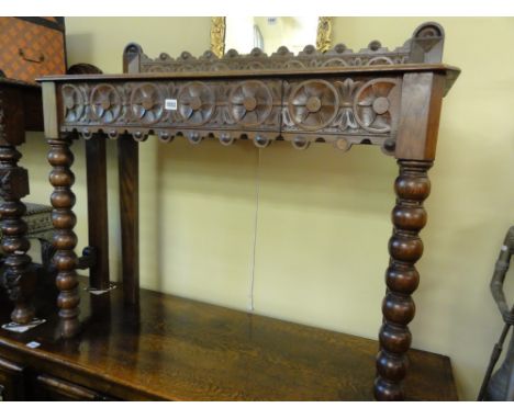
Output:
<instances>
[{"instance_id":1,"label":"left one of two plain straight dark posts behind the left bobbin leg","mask_svg":"<svg viewBox=\"0 0 514 419\"><path fill-rule=\"evenodd\" d=\"M86 167L89 246L96 249L96 263L89 270L89 285L107 290L110 279L105 135L94 134L86 140Z\"/></svg>"}]
</instances>

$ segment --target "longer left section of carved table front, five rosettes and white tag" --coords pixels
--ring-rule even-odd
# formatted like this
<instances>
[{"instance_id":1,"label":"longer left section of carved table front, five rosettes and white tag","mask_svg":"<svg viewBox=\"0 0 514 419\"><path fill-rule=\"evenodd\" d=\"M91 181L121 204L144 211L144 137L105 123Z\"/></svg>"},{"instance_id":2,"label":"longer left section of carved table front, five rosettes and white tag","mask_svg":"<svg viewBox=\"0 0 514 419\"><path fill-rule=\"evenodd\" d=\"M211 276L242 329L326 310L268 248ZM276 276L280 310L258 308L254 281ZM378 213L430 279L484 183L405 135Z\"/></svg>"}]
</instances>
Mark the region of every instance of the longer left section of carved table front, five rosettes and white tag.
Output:
<instances>
[{"instance_id":1,"label":"longer left section of carved table front, five rosettes and white tag","mask_svg":"<svg viewBox=\"0 0 514 419\"><path fill-rule=\"evenodd\" d=\"M141 132L161 139L177 133L278 135L281 89L281 80L62 84L62 126L111 136Z\"/></svg>"}]
</instances>

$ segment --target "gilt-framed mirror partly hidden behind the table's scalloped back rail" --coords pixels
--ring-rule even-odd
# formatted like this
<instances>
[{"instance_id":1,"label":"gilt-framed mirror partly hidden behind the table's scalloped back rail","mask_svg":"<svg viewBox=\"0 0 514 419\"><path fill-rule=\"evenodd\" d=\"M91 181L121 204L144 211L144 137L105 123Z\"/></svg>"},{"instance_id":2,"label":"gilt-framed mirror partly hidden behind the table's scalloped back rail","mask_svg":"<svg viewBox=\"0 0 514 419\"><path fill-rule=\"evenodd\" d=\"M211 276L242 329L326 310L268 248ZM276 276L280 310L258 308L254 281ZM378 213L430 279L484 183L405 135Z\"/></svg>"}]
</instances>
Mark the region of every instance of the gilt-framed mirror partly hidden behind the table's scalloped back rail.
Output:
<instances>
[{"instance_id":1,"label":"gilt-framed mirror partly hidden behind the table's scalloped back rail","mask_svg":"<svg viewBox=\"0 0 514 419\"><path fill-rule=\"evenodd\" d=\"M211 20L211 50L222 57L227 50L249 54L258 47L271 55L284 45L298 54L306 45L321 52L332 43L332 18L327 16L216 16Z\"/></svg>"}]
</instances>

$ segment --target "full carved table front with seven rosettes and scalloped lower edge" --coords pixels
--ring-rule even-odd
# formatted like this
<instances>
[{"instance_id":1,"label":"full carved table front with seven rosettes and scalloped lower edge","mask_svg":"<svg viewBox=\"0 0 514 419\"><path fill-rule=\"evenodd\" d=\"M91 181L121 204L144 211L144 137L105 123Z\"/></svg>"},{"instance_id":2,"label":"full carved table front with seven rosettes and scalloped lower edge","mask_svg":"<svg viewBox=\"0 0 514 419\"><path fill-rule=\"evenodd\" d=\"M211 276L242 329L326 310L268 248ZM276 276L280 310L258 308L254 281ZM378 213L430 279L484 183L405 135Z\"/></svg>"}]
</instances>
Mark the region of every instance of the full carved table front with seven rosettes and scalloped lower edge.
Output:
<instances>
[{"instance_id":1,"label":"full carved table front with seven rosettes and scalloped lower edge","mask_svg":"<svg viewBox=\"0 0 514 419\"><path fill-rule=\"evenodd\" d=\"M63 131L86 137L155 134L164 141L180 134L191 143L214 136L224 145L246 136L258 147L290 140L342 149L373 144L394 147L401 78L329 77L112 81L59 87Z\"/></svg>"}]
</instances>

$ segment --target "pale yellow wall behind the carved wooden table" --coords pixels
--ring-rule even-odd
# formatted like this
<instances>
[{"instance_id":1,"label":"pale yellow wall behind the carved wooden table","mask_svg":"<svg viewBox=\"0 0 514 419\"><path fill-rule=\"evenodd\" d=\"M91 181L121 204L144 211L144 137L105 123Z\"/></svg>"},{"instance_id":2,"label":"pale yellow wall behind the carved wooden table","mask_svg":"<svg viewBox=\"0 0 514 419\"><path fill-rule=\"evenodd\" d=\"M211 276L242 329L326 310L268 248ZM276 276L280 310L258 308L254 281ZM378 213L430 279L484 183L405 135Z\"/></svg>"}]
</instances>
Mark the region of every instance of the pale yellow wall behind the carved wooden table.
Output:
<instances>
[{"instance_id":1,"label":"pale yellow wall behind the carved wooden table","mask_svg":"<svg viewBox=\"0 0 514 419\"><path fill-rule=\"evenodd\" d=\"M354 49L375 38L394 47L426 20L337 18L334 36ZM436 20L446 30L445 61L461 67L462 75L445 99L438 158L431 171L413 346L448 354L460 396L472 399L502 326L488 285L513 223L514 54L509 52L514 19ZM177 56L182 49L200 55L209 48L209 25L206 18L69 18L69 64L89 61L119 72L130 41L153 57L163 50ZM74 147L82 247L83 144ZM47 202L42 135L31 135L22 151L31 170L30 199ZM375 338L395 174L394 160L371 147L342 154L315 145L301 152L287 144L258 150L245 141L194 147L183 139L163 145L150 138L141 146L142 284L239 309L254 305L259 314ZM116 182L110 144L113 214ZM112 215L110 223L115 279L119 218ZM512 274L507 282L514 290Z\"/></svg>"}]
</instances>

